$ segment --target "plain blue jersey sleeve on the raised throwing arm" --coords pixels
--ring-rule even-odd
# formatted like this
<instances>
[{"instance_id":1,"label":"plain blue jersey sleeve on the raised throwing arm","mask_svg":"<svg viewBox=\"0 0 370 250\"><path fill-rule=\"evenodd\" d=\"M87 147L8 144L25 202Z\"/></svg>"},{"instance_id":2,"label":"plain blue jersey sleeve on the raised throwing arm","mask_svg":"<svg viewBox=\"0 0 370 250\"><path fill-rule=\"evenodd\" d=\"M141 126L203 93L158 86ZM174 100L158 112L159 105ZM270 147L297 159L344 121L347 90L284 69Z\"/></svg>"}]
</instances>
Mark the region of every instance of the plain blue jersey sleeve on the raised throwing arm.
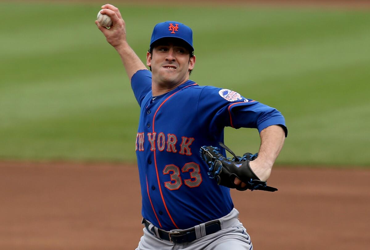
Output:
<instances>
[{"instance_id":1,"label":"plain blue jersey sleeve on the raised throwing arm","mask_svg":"<svg viewBox=\"0 0 370 250\"><path fill-rule=\"evenodd\" d=\"M135 98L141 106L142 100L152 89L152 72L147 69L137 71L131 78L131 88Z\"/></svg>"}]
</instances>

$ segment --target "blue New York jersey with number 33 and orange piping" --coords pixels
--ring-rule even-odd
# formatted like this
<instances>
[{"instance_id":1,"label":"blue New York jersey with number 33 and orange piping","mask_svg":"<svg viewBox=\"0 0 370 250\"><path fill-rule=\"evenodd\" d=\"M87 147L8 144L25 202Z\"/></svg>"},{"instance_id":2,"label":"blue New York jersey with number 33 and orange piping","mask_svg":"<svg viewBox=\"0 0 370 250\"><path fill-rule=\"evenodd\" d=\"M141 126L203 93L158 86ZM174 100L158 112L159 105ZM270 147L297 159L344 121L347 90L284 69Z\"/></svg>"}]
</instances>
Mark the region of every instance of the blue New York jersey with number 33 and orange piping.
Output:
<instances>
[{"instance_id":1,"label":"blue New York jersey with number 33 and orange piping","mask_svg":"<svg viewBox=\"0 0 370 250\"><path fill-rule=\"evenodd\" d=\"M218 147L226 126L257 128L285 120L276 109L239 93L198 86L189 80L152 97L148 70L136 72L132 90L141 107L136 154L142 216L164 229L187 229L227 215L233 209L230 189L208 177L199 150ZM223 155L225 150L221 148Z\"/></svg>"}]
</instances>

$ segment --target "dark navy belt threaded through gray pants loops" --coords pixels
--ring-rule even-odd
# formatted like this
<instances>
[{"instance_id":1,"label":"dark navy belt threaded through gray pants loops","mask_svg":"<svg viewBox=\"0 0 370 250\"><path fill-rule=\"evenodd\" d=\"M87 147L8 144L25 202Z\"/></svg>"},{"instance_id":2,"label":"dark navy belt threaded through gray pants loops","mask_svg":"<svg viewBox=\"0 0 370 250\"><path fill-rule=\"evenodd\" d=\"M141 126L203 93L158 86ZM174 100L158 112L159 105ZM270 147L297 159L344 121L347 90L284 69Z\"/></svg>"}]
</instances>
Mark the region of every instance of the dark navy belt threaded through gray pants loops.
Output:
<instances>
[{"instance_id":1,"label":"dark navy belt threaded through gray pants loops","mask_svg":"<svg viewBox=\"0 0 370 250\"><path fill-rule=\"evenodd\" d=\"M155 233L149 230L149 225L151 223L149 223L147 220L143 218L142 224L145 224L145 227L147 228L149 233L157 237ZM205 223L206 235L216 233L219 230L221 230L221 225L220 225L219 220L213 220L213 221ZM159 235L159 239L168 240L169 242L173 242L173 243L185 243L185 242L192 242L196 240L196 234L195 234L194 227L192 227L191 229L179 230L178 232L176 231L168 232L168 231L158 228L158 235Z\"/></svg>"}]
</instances>

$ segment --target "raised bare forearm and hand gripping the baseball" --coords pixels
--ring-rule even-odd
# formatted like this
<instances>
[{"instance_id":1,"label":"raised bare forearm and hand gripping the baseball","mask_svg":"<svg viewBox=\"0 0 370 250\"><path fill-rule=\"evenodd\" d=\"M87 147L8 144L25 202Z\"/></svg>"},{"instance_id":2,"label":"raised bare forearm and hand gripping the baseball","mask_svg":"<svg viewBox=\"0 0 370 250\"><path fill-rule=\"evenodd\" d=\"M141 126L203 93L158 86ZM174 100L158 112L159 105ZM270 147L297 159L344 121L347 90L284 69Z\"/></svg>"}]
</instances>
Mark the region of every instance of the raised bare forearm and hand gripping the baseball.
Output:
<instances>
[{"instance_id":1,"label":"raised bare forearm and hand gripping the baseball","mask_svg":"<svg viewBox=\"0 0 370 250\"><path fill-rule=\"evenodd\" d=\"M117 50L118 54L120 54L128 78L131 80L132 76L137 71L147 69L147 67L141 62L140 58L127 43L125 21L122 19L120 10L111 4L105 4L101 8L102 10L100 13L109 16L112 19L113 26L107 29L101 26L98 21L95 21L95 24L105 35L107 41Z\"/></svg>"}]
</instances>

